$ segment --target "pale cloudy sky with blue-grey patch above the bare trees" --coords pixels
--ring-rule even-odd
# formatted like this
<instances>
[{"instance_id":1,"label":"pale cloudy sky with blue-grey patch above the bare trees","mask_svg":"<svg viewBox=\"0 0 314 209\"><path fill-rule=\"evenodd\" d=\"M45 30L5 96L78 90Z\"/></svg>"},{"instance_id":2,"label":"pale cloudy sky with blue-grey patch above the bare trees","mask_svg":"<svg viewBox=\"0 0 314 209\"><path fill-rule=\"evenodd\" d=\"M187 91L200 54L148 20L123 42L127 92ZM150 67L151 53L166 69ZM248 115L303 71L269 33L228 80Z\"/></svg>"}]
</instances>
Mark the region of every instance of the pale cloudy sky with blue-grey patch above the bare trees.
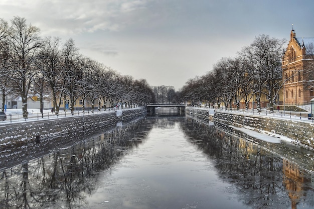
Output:
<instances>
[{"instance_id":1,"label":"pale cloudy sky with blue-grey patch above the bare trees","mask_svg":"<svg viewBox=\"0 0 314 209\"><path fill-rule=\"evenodd\" d=\"M42 37L72 38L80 54L151 86L180 90L236 57L255 37L314 37L312 0L0 0Z\"/></svg>"}]
</instances>

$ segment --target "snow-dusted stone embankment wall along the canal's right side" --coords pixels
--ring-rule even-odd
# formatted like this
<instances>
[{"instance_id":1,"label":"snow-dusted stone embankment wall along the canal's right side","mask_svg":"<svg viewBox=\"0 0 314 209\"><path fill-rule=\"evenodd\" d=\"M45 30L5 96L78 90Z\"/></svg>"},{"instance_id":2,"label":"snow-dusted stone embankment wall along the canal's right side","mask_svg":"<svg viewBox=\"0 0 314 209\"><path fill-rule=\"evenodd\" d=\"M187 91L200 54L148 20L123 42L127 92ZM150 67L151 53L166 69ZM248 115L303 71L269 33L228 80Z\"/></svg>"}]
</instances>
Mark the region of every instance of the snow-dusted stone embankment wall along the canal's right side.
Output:
<instances>
[{"instance_id":1,"label":"snow-dusted stone embankment wall along the canal's right side","mask_svg":"<svg viewBox=\"0 0 314 209\"><path fill-rule=\"evenodd\" d=\"M297 143L314 148L313 123L219 111L211 114L208 110L192 108L187 108L186 114L195 114L198 119L206 119L207 114L207 119L214 122L248 128L258 132L263 131L275 136L284 136Z\"/></svg>"}]
</instances>

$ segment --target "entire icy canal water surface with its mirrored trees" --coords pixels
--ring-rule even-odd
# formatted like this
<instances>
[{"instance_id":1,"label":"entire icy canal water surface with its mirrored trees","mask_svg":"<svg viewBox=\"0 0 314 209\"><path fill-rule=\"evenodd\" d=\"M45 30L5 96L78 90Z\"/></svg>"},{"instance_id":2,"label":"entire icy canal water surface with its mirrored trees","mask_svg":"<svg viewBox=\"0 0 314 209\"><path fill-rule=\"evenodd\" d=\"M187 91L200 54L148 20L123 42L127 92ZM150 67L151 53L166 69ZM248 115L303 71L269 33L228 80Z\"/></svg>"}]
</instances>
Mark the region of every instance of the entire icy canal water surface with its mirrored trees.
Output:
<instances>
[{"instance_id":1,"label":"entire icy canal water surface with its mirrored trees","mask_svg":"<svg viewBox=\"0 0 314 209\"><path fill-rule=\"evenodd\" d=\"M228 132L186 117L118 124L0 168L0 208L314 208L312 151Z\"/></svg>"}]
</instances>

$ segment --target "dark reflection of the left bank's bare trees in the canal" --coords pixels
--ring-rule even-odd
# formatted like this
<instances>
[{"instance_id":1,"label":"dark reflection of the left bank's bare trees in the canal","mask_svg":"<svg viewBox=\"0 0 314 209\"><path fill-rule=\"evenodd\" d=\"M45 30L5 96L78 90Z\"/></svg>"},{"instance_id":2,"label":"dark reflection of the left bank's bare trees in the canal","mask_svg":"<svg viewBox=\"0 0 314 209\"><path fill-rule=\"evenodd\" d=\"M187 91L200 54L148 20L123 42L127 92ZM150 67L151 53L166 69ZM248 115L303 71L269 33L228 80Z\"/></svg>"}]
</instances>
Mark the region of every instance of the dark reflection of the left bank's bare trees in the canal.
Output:
<instances>
[{"instance_id":1,"label":"dark reflection of the left bank's bare trees in the canal","mask_svg":"<svg viewBox=\"0 0 314 209\"><path fill-rule=\"evenodd\" d=\"M70 149L2 171L0 208L81 208L97 187L100 171L110 169L145 140L153 122L138 120Z\"/></svg>"}]
</instances>

